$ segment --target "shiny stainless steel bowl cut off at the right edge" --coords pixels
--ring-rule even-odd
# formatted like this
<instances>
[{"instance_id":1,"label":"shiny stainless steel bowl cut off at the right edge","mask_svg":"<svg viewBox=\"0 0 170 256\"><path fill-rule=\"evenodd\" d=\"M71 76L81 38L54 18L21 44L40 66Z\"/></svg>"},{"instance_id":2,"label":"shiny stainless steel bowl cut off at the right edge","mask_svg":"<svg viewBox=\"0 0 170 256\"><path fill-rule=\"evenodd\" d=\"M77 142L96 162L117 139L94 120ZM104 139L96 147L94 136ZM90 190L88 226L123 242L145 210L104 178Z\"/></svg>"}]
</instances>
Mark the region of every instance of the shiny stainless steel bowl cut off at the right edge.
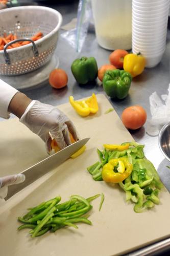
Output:
<instances>
[{"instance_id":1,"label":"shiny stainless steel bowl cut off at the right edge","mask_svg":"<svg viewBox=\"0 0 170 256\"><path fill-rule=\"evenodd\" d=\"M158 136L158 144L164 157L170 161L170 122L162 127Z\"/></svg>"}]
</instances>

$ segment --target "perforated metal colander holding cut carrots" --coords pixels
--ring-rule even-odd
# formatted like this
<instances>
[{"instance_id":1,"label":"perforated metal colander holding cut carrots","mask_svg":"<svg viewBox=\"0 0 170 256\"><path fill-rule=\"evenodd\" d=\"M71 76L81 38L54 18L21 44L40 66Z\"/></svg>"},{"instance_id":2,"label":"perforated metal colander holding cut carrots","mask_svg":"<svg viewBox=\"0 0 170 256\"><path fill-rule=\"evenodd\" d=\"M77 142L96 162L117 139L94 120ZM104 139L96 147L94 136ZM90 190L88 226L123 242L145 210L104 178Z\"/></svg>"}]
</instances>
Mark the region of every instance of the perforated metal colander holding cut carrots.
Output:
<instances>
[{"instance_id":1,"label":"perforated metal colander holding cut carrots","mask_svg":"<svg viewBox=\"0 0 170 256\"><path fill-rule=\"evenodd\" d=\"M61 14L48 7L24 6L0 11L0 36L16 33L18 38L28 38L41 31L43 37L25 46L0 51L0 74L20 75L34 71L47 63L57 46Z\"/></svg>"}]
</instances>

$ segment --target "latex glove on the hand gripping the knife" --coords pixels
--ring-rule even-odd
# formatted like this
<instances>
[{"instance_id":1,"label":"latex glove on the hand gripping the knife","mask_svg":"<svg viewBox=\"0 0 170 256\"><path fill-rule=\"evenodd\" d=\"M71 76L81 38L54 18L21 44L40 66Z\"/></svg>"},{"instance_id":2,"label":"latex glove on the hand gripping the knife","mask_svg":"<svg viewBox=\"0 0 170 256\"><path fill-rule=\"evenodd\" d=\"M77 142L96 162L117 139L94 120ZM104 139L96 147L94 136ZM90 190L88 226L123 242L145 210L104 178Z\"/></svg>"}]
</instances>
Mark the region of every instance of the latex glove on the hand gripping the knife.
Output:
<instances>
[{"instance_id":1,"label":"latex glove on the hand gripping the knife","mask_svg":"<svg viewBox=\"0 0 170 256\"><path fill-rule=\"evenodd\" d=\"M26 177L23 174L9 175L0 178L0 198L3 199L7 196L8 186L19 184L25 181Z\"/></svg>"}]
</instances>

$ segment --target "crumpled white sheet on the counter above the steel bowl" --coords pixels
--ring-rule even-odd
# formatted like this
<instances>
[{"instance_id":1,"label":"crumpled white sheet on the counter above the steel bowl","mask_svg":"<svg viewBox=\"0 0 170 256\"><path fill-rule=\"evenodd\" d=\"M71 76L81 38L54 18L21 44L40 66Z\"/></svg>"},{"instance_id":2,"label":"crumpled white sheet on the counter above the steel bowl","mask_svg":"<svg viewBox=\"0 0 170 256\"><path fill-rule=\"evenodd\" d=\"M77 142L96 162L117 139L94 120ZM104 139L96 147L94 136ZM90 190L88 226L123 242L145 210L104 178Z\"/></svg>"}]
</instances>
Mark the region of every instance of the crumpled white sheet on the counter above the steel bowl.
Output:
<instances>
[{"instance_id":1,"label":"crumpled white sheet on the counter above the steel bowl","mask_svg":"<svg viewBox=\"0 0 170 256\"><path fill-rule=\"evenodd\" d=\"M154 92L149 98L152 118L147 121L146 132L151 136L157 136L162 126L170 122L170 83L167 91L161 97Z\"/></svg>"}]
</instances>

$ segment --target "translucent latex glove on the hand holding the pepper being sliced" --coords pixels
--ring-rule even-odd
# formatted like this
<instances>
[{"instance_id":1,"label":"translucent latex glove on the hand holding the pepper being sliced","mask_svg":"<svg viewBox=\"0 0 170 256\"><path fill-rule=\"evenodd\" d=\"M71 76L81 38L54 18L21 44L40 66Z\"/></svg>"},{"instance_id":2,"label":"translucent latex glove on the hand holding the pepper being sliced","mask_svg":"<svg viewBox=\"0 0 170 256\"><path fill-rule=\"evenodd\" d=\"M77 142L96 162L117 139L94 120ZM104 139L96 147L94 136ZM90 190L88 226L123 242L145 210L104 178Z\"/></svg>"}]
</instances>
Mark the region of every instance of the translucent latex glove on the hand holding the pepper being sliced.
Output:
<instances>
[{"instance_id":1,"label":"translucent latex glove on the hand holding the pepper being sliced","mask_svg":"<svg viewBox=\"0 0 170 256\"><path fill-rule=\"evenodd\" d=\"M56 106L33 100L20 118L33 133L37 134L46 144L50 152L52 137L62 149L71 144L69 132L77 141L78 136L74 124Z\"/></svg>"}]
</instances>

